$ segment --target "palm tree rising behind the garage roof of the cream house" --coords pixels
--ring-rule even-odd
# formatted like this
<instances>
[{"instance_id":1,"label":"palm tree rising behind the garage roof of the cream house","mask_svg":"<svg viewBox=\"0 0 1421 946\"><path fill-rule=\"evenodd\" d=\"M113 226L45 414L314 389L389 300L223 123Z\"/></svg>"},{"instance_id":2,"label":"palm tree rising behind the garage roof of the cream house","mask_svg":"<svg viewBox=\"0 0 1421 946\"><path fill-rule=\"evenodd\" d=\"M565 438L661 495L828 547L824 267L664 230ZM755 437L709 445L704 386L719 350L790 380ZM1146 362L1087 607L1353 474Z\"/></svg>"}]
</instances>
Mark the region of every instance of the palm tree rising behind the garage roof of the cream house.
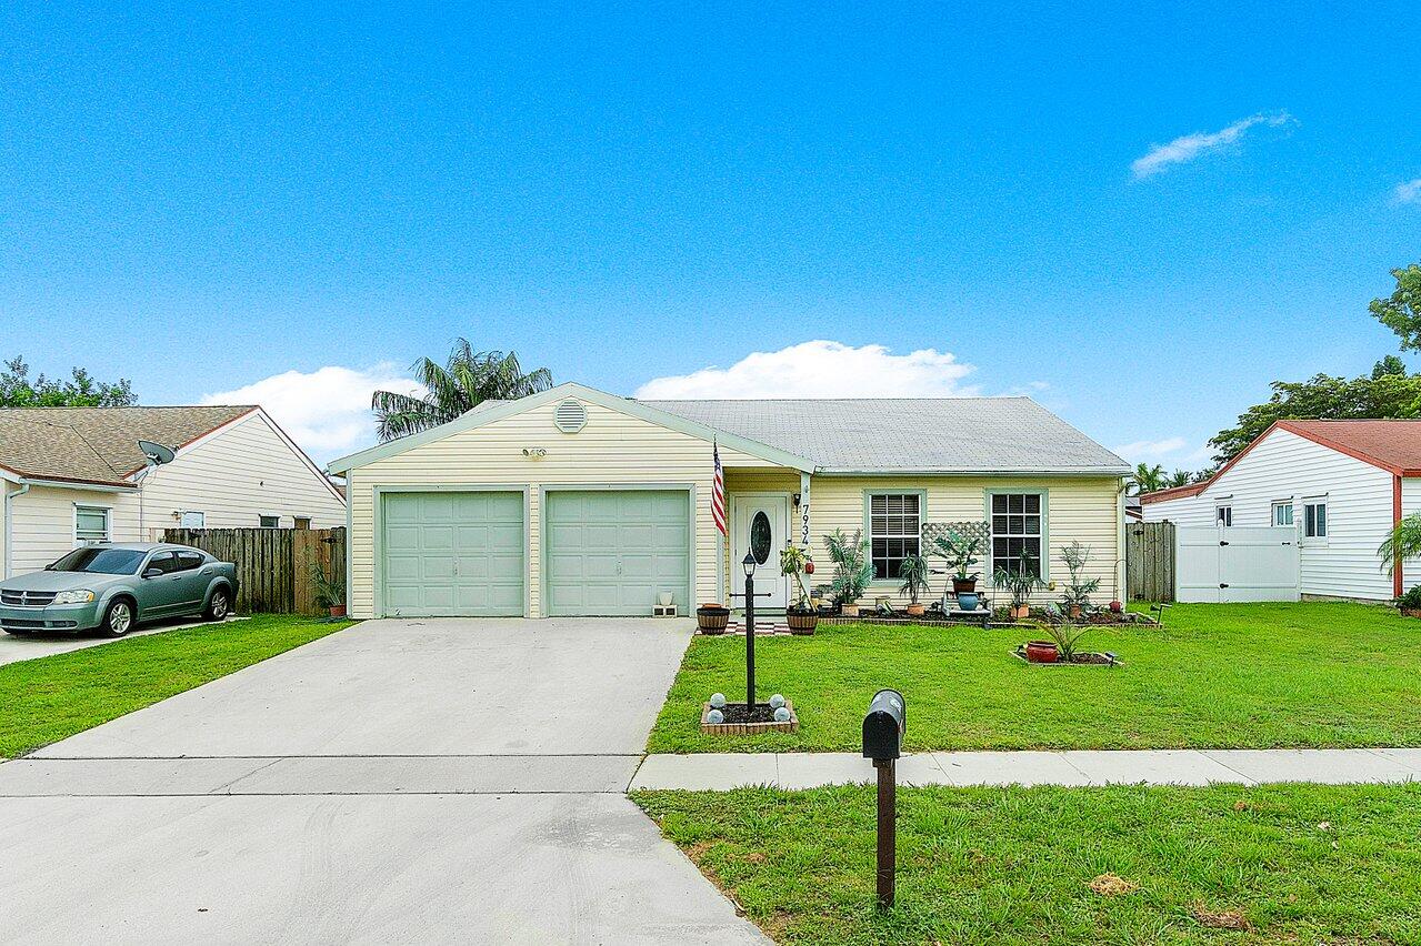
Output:
<instances>
[{"instance_id":1,"label":"palm tree rising behind the garage roof of the cream house","mask_svg":"<svg viewBox=\"0 0 1421 946\"><path fill-rule=\"evenodd\" d=\"M425 388L423 398L394 391L371 396L381 440L448 423L485 401L514 401L553 386L553 372L547 368L523 374L517 354L475 351L468 338L455 341L443 365L421 358L411 371Z\"/></svg>"}]
</instances>

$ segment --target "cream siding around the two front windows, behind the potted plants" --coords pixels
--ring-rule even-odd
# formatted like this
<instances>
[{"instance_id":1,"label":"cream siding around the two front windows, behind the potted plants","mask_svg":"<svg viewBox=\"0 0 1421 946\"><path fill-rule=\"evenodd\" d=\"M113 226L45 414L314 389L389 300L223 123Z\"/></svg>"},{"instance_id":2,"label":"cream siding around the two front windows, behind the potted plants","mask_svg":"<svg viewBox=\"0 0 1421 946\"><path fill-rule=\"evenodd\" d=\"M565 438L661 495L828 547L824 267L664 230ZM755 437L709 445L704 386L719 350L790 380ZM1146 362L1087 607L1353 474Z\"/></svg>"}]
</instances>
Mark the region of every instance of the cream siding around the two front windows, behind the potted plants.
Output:
<instances>
[{"instance_id":1,"label":"cream siding around the two front windows, behind the potted plants","mask_svg":"<svg viewBox=\"0 0 1421 946\"><path fill-rule=\"evenodd\" d=\"M827 584L833 575L833 564L823 537L836 527L850 535L855 528L864 528L865 493L917 493L926 494L926 507L921 517L924 523L982 521L988 518L988 491L1044 493L1046 494L1046 541L1050 560L1047 580L1057 584L1057 591L1042 591L1034 601L1046 602L1060 597L1060 585L1066 578L1066 564L1060 550L1080 540L1090 545L1087 578L1100 578L1098 601L1118 598L1120 587L1120 533L1124 527L1120 501L1120 477L1083 479L1017 479L1017 477L966 477L966 476L816 476L810 484L810 555L816 571L813 584ZM976 565L982 572L980 588L989 594L992 577L989 555L983 550ZM941 558L928 558L932 568L942 568ZM946 575L932 575L926 601L936 599L946 584ZM898 595L899 581L874 582L865 599L880 595L895 604L907 601ZM1005 594L1005 592L1003 592Z\"/></svg>"}]
</instances>

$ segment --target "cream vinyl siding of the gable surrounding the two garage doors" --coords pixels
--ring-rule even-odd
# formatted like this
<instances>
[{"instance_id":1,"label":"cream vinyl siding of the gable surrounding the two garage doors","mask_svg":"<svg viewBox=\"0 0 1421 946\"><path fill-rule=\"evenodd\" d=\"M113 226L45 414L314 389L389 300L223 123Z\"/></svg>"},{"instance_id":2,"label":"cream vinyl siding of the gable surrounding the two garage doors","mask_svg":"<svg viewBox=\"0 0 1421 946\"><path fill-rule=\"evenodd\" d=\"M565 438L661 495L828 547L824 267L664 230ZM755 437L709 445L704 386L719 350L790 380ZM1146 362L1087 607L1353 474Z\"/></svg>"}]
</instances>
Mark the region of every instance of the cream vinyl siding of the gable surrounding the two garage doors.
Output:
<instances>
[{"instance_id":1,"label":"cream vinyl siding of the gable surrounding the two garage doors","mask_svg":"<svg viewBox=\"0 0 1421 946\"><path fill-rule=\"evenodd\" d=\"M693 490L695 528L692 575L698 599L716 595L716 537L710 518L710 443L639 418L583 401L587 426L563 433L553 423L561 401L531 408L502 420L415 446L350 470L351 582L350 607L355 616L375 612L374 490L401 486L506 486L527 489L529 616L541 616L543 489L557 486L688 486ZM541 449L540 457L523 455ZM725 446L720 463L772 466ZM730 470L726 470L730 477Z\"/></svg>"}]
</instances>

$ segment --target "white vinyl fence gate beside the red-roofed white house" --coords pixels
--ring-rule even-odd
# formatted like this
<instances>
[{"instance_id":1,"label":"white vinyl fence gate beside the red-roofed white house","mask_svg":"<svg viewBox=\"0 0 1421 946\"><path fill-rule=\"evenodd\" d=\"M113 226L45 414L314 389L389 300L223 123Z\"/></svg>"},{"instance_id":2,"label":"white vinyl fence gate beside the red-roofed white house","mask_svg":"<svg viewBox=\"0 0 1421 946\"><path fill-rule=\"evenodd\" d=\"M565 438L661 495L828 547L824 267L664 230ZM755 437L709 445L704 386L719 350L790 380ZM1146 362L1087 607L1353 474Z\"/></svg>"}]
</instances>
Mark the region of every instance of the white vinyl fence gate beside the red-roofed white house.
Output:
<instances>
[{"instance_id":1,"label":"white vinyl fence gate beside the red-roofed white house","mask_svg":"<svg viewBox=\"0 0 1421 946\"><path fill-rule=\"evenodd\" d=\"M1297 530L1290 526L1181 526L1175 601L1297 601Z\"/></svg>"}]
</instances>

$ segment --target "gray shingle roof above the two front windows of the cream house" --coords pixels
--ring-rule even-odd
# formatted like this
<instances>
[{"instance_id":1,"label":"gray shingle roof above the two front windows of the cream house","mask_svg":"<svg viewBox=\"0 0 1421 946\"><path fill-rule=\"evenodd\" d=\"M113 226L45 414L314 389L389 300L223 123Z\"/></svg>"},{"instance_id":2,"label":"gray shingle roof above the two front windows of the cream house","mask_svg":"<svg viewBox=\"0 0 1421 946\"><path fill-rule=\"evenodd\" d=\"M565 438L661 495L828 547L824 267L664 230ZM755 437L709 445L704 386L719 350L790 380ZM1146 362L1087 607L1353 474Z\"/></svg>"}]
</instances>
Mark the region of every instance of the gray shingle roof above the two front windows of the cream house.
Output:
<instances>
[{"instance_id":1,"label":"gray shingle roof above the two front windows of the cream house","mask_svg":"<svg viewBox=\"0 0 1421 946\"><path fill-rule=\"evenodd\" d=\"M642 401L826 472L1110 473L1130 464L1030 398Z\"/></svg>"}]
</instances>

